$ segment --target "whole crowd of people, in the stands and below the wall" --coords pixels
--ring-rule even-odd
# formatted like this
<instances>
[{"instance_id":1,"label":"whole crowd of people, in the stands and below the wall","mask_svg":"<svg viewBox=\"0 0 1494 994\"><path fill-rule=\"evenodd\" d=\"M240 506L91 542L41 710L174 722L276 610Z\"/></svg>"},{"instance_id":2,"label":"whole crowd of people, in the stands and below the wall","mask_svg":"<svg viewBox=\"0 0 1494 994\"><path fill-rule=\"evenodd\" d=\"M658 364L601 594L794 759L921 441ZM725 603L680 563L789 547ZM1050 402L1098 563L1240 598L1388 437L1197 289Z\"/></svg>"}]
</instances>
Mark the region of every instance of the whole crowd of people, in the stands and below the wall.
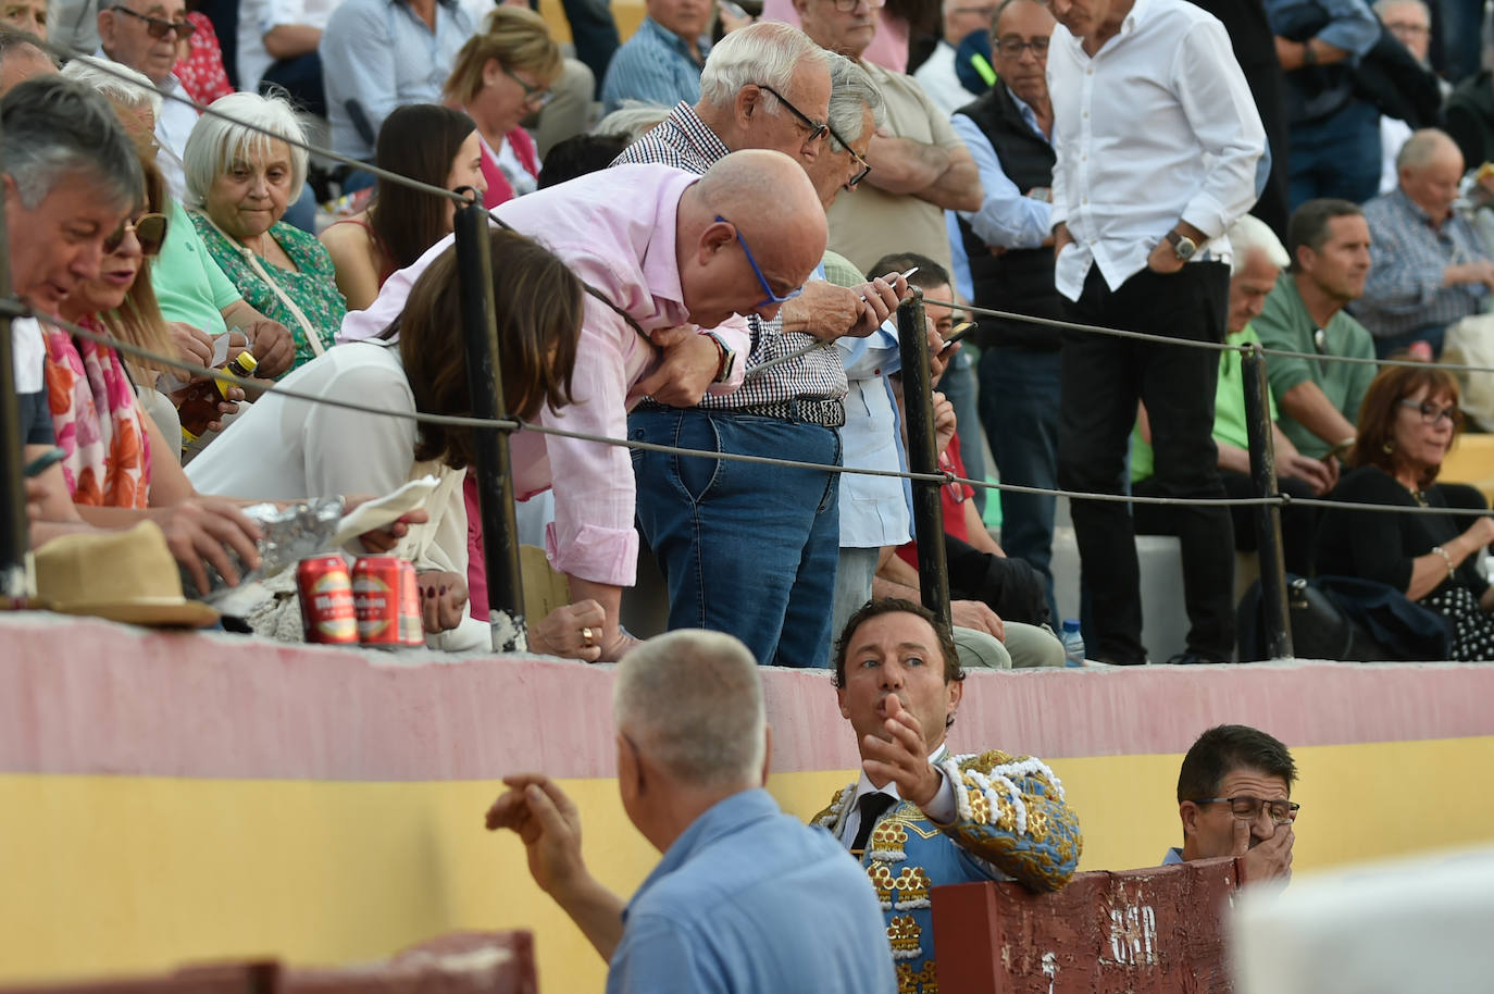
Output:
<instances>
[{"instance_id":1,"label":"whole crowd of people, in the stands and below the wall","mask_svg":"<svg viewBox=\"0 0 1494 994\"><path fill-rule=\"evenodd\" d=\"M481 199L508 411L575 432L509 439L514 495L571 595L530 619L530 647L622 661L619 786L666 855L624 913L551 780L511 777L489 827L523 839L617 990L714 990L690 972L708 952L748 990L814 963L825 990L934 991L929 886L1055 889L1077 865L1079 818L1046 764L944 741L967 668L1064 665L1052 496L1004 493L998 540L979 493L949 483L946 534L916 535L902 480L835 472L908 468L902 381L925 371L902 368L895 311L911 287L952 478L983 477L989 447L1007 483L1185 501L1073 501L1092 659L1147 662L1137 532L1179 537L1191 629L1171 662L1236 650L1234 552L1255 520L1186 501L1252 492L1246 369L1189 342L1295 353L1267 362L1283 493L1398 508L1288 508L1289 568L1418 605L1445 625L1439 658L1494 656L1494 519L1437 480L1464 387L1434 363L1491 333L1494 112L1478 115L1494 99L1466 72L1445 132L1419 97L1361 79L1379 66L1380 87L1425 79L1439 99L1433 67L1454 82L1425 43L1446 18L1418 0L1268 0L1225 10L1231 30L1186 0L947 0L941 16L769 0L714 40L699 0L650 0L620 48L578 0L584 66L508 4L245 0L232 54L182 0L106 4L66 67L37 45L40 7L4 7L30 37L0 34L7 259L36 312L12 323L33 546L149 522L208 590L260 559L245 507L351 510L433 477L420 510L348 552L415 564L429 647L489 646L474 429L411 417L474 410L459 197L357 166L311 176L305 146L330 135L357 163ZM581 118L622 117L586 133L562 91ZM1391 117L1407 106L1416 120ZM297 223L329 191L351 206ZM971 363L946 347L961 300L1070 324L976 314ZM211 377L117 345L194 366L248 353L254 381L224 387L199 435L179 408ZM1398 356L1424 362L1376 369ZM1433 508L1466 514L1418 514ZM944 550L953 625L914 602L920 543ZM651 643L623 625L642 547L675 629ZM834 671L862 759L814 819L834 843L760 791L754 664ZM1264 732L1204 732L1167 861L1288 876L1295 776ZM840 849L861 871L826 858ZM796 952L769 958L714 927L728 919Z\"/></svg>"}]
</instances>

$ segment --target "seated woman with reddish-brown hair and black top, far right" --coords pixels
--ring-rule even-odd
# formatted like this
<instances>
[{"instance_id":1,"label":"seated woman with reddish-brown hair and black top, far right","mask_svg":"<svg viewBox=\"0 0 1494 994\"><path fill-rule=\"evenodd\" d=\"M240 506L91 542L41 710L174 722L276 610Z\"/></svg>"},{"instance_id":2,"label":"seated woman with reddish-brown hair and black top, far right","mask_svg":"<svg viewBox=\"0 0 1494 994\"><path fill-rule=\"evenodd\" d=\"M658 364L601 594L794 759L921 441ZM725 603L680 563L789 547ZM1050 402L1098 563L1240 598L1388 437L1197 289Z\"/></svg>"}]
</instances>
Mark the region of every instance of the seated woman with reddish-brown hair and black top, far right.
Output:
<instances>
[{"instance_id":1,"label":"seated woman with reddish-brown hair and black top, far right","mask_svg":"<svg viewBox=\"0 0 1494 994\"><path fill-rule=\"evenodd\" d=\"M1325 510L1318 572L1385 583L1448 620L1452 659L1494 659L1494 587L1476 568L1479 549L1494 543L1494 519L1470 487L1437 483L1461 425L1449 372L1395 366L1374 378L1348 459L1354 468L1333 498L1407 513ZM1466 507L1469 516L1413 513L1424 507Z\"/></svg>"}]
</instances>

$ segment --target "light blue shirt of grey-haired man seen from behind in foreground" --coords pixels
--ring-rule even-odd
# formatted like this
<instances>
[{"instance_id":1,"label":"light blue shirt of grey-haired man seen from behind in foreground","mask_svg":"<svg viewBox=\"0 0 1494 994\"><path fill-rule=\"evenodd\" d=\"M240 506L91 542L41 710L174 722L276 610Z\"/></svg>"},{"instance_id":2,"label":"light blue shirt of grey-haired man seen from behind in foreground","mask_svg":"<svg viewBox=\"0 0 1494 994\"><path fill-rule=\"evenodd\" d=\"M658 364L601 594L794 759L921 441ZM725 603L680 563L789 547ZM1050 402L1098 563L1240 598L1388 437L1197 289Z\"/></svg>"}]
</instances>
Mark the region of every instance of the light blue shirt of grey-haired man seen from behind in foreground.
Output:
<instances>
[{"instance_id":1,"label":"light blue shirt of grey-haired man seen from behind in foreground","mask_svg":"<svg viewBox=\"0 0 1494 994\"><path fill-rule=\"evenodd\" d=\"M871 882L766 791L708 809L623 912L608 994L893 994Z\"/></svg>"}]
</instances>

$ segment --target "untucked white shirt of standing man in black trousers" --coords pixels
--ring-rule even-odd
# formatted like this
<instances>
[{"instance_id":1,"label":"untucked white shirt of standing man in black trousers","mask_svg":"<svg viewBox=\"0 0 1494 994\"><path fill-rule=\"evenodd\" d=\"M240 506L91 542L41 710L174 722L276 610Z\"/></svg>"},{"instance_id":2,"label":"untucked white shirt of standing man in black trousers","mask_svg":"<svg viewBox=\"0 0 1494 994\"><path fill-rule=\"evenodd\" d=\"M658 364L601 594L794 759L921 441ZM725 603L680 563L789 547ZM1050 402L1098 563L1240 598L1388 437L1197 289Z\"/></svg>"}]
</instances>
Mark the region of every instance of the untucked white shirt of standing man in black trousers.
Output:
<instances>
[{"instance_id":1,"label":"untucked white shirt of standing man in black trousers","mask_svg":"<svg viewBox=\"0 0 1494 994\"><path fill-rule=\"evenodd\" d=\"M1255 203L1265 132L1224 25L1186 0L1135 0L1089 57L1062 24L1047 55L1052 221L1073 244L1053 274L1077 300L1091 263L1116 290L1179 220L1228 260L1225 230Z\"/></svg>"}]
</instances>

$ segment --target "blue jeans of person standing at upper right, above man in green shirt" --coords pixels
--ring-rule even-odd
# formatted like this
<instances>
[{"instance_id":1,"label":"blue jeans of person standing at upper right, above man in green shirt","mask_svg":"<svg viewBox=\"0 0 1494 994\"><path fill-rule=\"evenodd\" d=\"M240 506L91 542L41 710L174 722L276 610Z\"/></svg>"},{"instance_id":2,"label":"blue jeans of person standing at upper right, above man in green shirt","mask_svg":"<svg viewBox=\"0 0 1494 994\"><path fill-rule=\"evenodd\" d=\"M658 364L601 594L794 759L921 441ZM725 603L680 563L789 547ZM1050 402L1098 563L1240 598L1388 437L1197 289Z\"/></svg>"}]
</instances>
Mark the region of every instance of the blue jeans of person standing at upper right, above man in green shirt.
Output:
<instances>
[{"instance_id":1,"label":"blue jeans of person standing at upper right, above man in green shirt","mask_svg":"<svg viewBox=\"0 0 1494 994\"><path fill-rule=\"evenodd\" d=\"M1380 188L1380 112L1366 100L1291 130L1292 211L1318 197L1364 203Z\"/></svg>"}]
</instances>

